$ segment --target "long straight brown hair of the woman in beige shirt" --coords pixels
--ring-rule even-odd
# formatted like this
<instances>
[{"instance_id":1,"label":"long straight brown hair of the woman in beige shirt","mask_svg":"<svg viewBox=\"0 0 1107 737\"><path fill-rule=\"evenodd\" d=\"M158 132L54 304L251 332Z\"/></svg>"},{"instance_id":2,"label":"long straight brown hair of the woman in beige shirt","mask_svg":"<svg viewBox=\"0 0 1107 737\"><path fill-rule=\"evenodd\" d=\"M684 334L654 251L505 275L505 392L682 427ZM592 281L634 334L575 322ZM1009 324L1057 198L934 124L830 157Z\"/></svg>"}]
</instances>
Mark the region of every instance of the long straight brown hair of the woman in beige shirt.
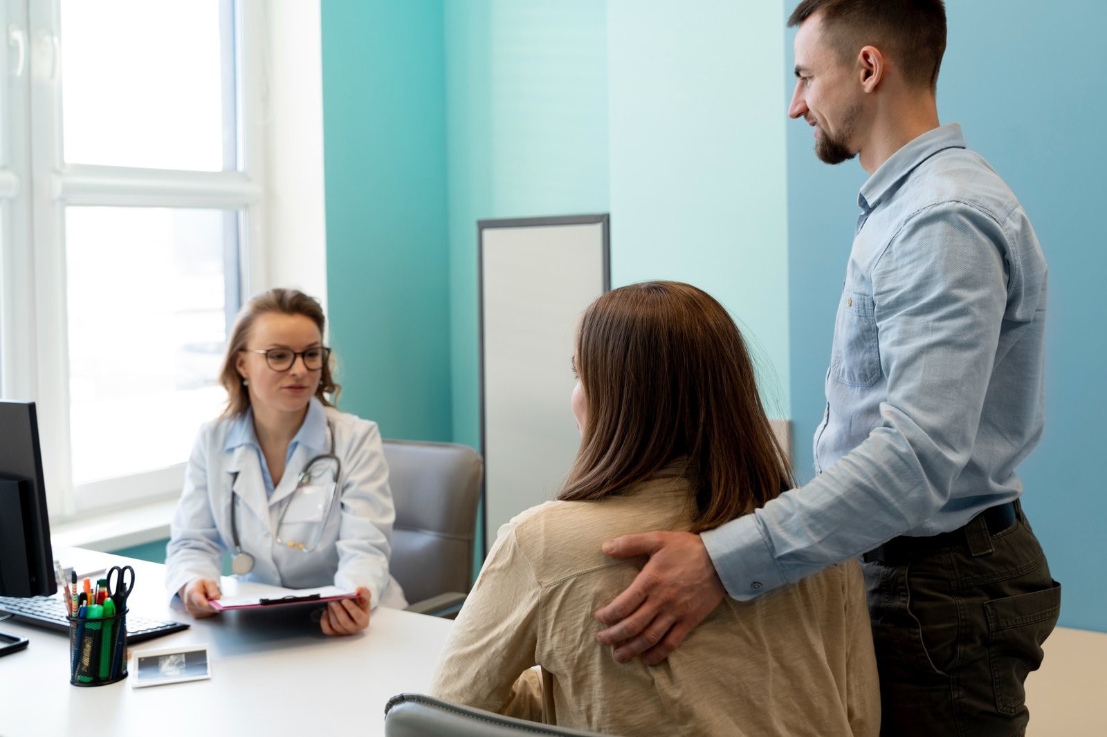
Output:
<instances>
[{"instance_id":1,"label":"long straight brown hair of the woman in beige shirt","mask_svg":"<svg viewBox=\"0 0 1107 737\"><path fill-rule=\"evenodd\" d=\"M588 404L565 500L602 499L685 459L693 531L792 488L737 325L691 284L615 289L584 311L575 364Z\"/></svg>"}]
</instances>

